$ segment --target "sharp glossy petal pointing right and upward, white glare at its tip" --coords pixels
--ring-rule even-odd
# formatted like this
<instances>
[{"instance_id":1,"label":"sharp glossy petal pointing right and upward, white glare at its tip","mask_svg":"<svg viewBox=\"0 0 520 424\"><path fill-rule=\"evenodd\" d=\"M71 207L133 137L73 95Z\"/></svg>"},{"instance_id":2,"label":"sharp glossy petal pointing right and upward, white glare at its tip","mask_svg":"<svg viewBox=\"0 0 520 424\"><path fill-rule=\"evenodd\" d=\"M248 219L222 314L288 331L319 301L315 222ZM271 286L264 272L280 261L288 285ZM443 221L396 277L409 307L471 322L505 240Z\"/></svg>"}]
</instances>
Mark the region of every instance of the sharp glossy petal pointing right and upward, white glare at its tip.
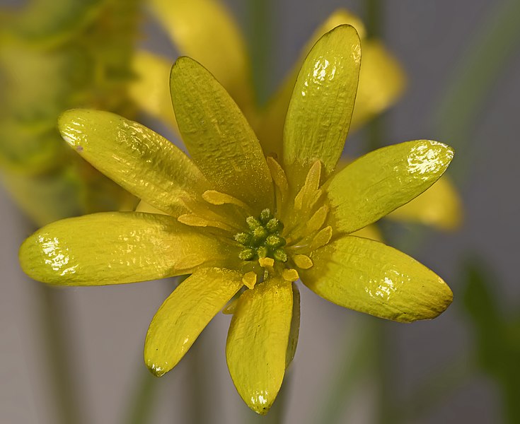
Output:
<instances>
[{"instance_id":1,"label":"sharp glossy petal pointing right and upward, white glare at its tip","mask_svg":"<svg viewBox=\"0 0 520 424\"><path fill-rule=\"evenodd\" d=\"M330 223L354 232L408 203L439 179L453 149L437 141L407 141L354 160L326 184Z\"/></svg>"}]
</instances>

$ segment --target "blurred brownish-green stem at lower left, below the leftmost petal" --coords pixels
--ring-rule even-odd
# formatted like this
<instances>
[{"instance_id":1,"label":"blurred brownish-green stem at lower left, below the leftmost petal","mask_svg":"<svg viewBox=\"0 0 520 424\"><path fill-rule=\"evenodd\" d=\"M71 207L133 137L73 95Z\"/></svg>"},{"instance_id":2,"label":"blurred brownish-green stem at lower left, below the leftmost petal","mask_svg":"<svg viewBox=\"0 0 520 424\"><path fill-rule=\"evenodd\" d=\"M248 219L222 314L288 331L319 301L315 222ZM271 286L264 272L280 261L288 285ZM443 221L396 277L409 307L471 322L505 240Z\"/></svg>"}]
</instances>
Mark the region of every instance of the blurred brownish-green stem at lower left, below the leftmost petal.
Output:
<instances>
[{"instance_id":1,"label":"blurred brownish-green stem at lower left, below the leftmost petal","mask_svg":"<svg viewBox=\"0 0 520 424\"><path fill-rule=\"evenodd\" d=\"M45 338L47 361L52 374L52 390L62 424L84 422L77 396L74 372L69 358L71 343L64 324L67 322L67 308L63 293L51 285L33 282L39 292L42 333Z\"/></svg>"}]
</instances>

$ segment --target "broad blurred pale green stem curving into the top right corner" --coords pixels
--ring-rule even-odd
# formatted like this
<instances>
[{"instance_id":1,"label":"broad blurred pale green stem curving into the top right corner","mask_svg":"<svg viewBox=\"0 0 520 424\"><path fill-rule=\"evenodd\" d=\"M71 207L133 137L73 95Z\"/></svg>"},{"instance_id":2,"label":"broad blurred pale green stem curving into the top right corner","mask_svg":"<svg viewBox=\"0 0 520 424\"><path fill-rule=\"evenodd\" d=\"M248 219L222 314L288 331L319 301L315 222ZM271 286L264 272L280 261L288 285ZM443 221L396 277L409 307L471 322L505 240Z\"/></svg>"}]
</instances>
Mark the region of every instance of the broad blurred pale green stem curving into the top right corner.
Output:
<instances>
[{"instance_id":1,"label":"broad blurred pale green stem curving into the top right corner","mask_svg":"<svg viewBox=\"0 0 520 424\"><path fill-rule=\"evenodd\" d=\"M504 0L487 22L478 25L480 32L464 49L460 65L435 114L441 139L464 152L450 167L459 183L468 174L474 158L469 142L475 134L473 126L478 114L520 44L519 16L520 1Z\"/></svg>"}]
</instances>

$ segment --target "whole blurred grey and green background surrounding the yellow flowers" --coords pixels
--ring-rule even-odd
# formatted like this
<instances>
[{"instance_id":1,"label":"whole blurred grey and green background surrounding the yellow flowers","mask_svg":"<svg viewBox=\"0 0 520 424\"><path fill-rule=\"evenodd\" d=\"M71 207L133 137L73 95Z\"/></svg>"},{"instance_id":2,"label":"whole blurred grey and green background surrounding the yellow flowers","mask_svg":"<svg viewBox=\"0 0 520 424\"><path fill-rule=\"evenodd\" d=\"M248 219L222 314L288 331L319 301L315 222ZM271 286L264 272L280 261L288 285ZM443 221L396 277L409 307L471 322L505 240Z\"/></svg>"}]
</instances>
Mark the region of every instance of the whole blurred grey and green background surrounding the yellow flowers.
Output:
<instances>
[{"instance_id":1,"label":"whole blurred grey and green background surrounding the yellow flowers","mask_svg":"<svg viewBox=\"0 0 520 424\"><path fill-rule=\"evenodd\" d=\"M333 11L361 17L407 83L395 105L349 135L348 155L374 139L447 143L463 205L451 231L382 224L388 244L451 286L453 304L431 322L383 322L300 286L299 346L267 417L243 404L229 377L228 315L175 370L149 375L144 336L171 281L57 289L23 275L18 247L37 226L135 203L56 141L54 117L90 105L175 140L127 85L136 46L172 63L178 50L146 1L35 1L28 17L13 18L22 3L0 1L1 422L520 423L518 0L221 0L248 42L260 101Z\"/></svg>"}]
</instances>

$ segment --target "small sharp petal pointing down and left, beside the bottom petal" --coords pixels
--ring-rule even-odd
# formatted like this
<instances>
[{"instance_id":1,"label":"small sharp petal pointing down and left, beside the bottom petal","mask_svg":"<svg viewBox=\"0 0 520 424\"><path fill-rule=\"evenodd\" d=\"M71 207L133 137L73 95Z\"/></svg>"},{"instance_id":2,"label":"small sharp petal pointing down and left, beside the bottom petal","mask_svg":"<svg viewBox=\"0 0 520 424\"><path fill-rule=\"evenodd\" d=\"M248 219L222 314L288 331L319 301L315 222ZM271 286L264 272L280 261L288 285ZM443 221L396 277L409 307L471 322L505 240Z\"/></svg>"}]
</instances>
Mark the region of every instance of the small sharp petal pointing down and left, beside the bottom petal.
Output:
<instances>
[{"instance_id":1,"label":"small sharp petal pointing down and left, beside the bottom petal","mask_svg":"<svg viewBox=\"0 0 520 424\"><path fill-rule=\"evenodd\" d=\"M242 274L198 269L163 302L144 343L144 362L157 377L183 358L205 326L242 287Z\"/></svg>"}]
</instances>

